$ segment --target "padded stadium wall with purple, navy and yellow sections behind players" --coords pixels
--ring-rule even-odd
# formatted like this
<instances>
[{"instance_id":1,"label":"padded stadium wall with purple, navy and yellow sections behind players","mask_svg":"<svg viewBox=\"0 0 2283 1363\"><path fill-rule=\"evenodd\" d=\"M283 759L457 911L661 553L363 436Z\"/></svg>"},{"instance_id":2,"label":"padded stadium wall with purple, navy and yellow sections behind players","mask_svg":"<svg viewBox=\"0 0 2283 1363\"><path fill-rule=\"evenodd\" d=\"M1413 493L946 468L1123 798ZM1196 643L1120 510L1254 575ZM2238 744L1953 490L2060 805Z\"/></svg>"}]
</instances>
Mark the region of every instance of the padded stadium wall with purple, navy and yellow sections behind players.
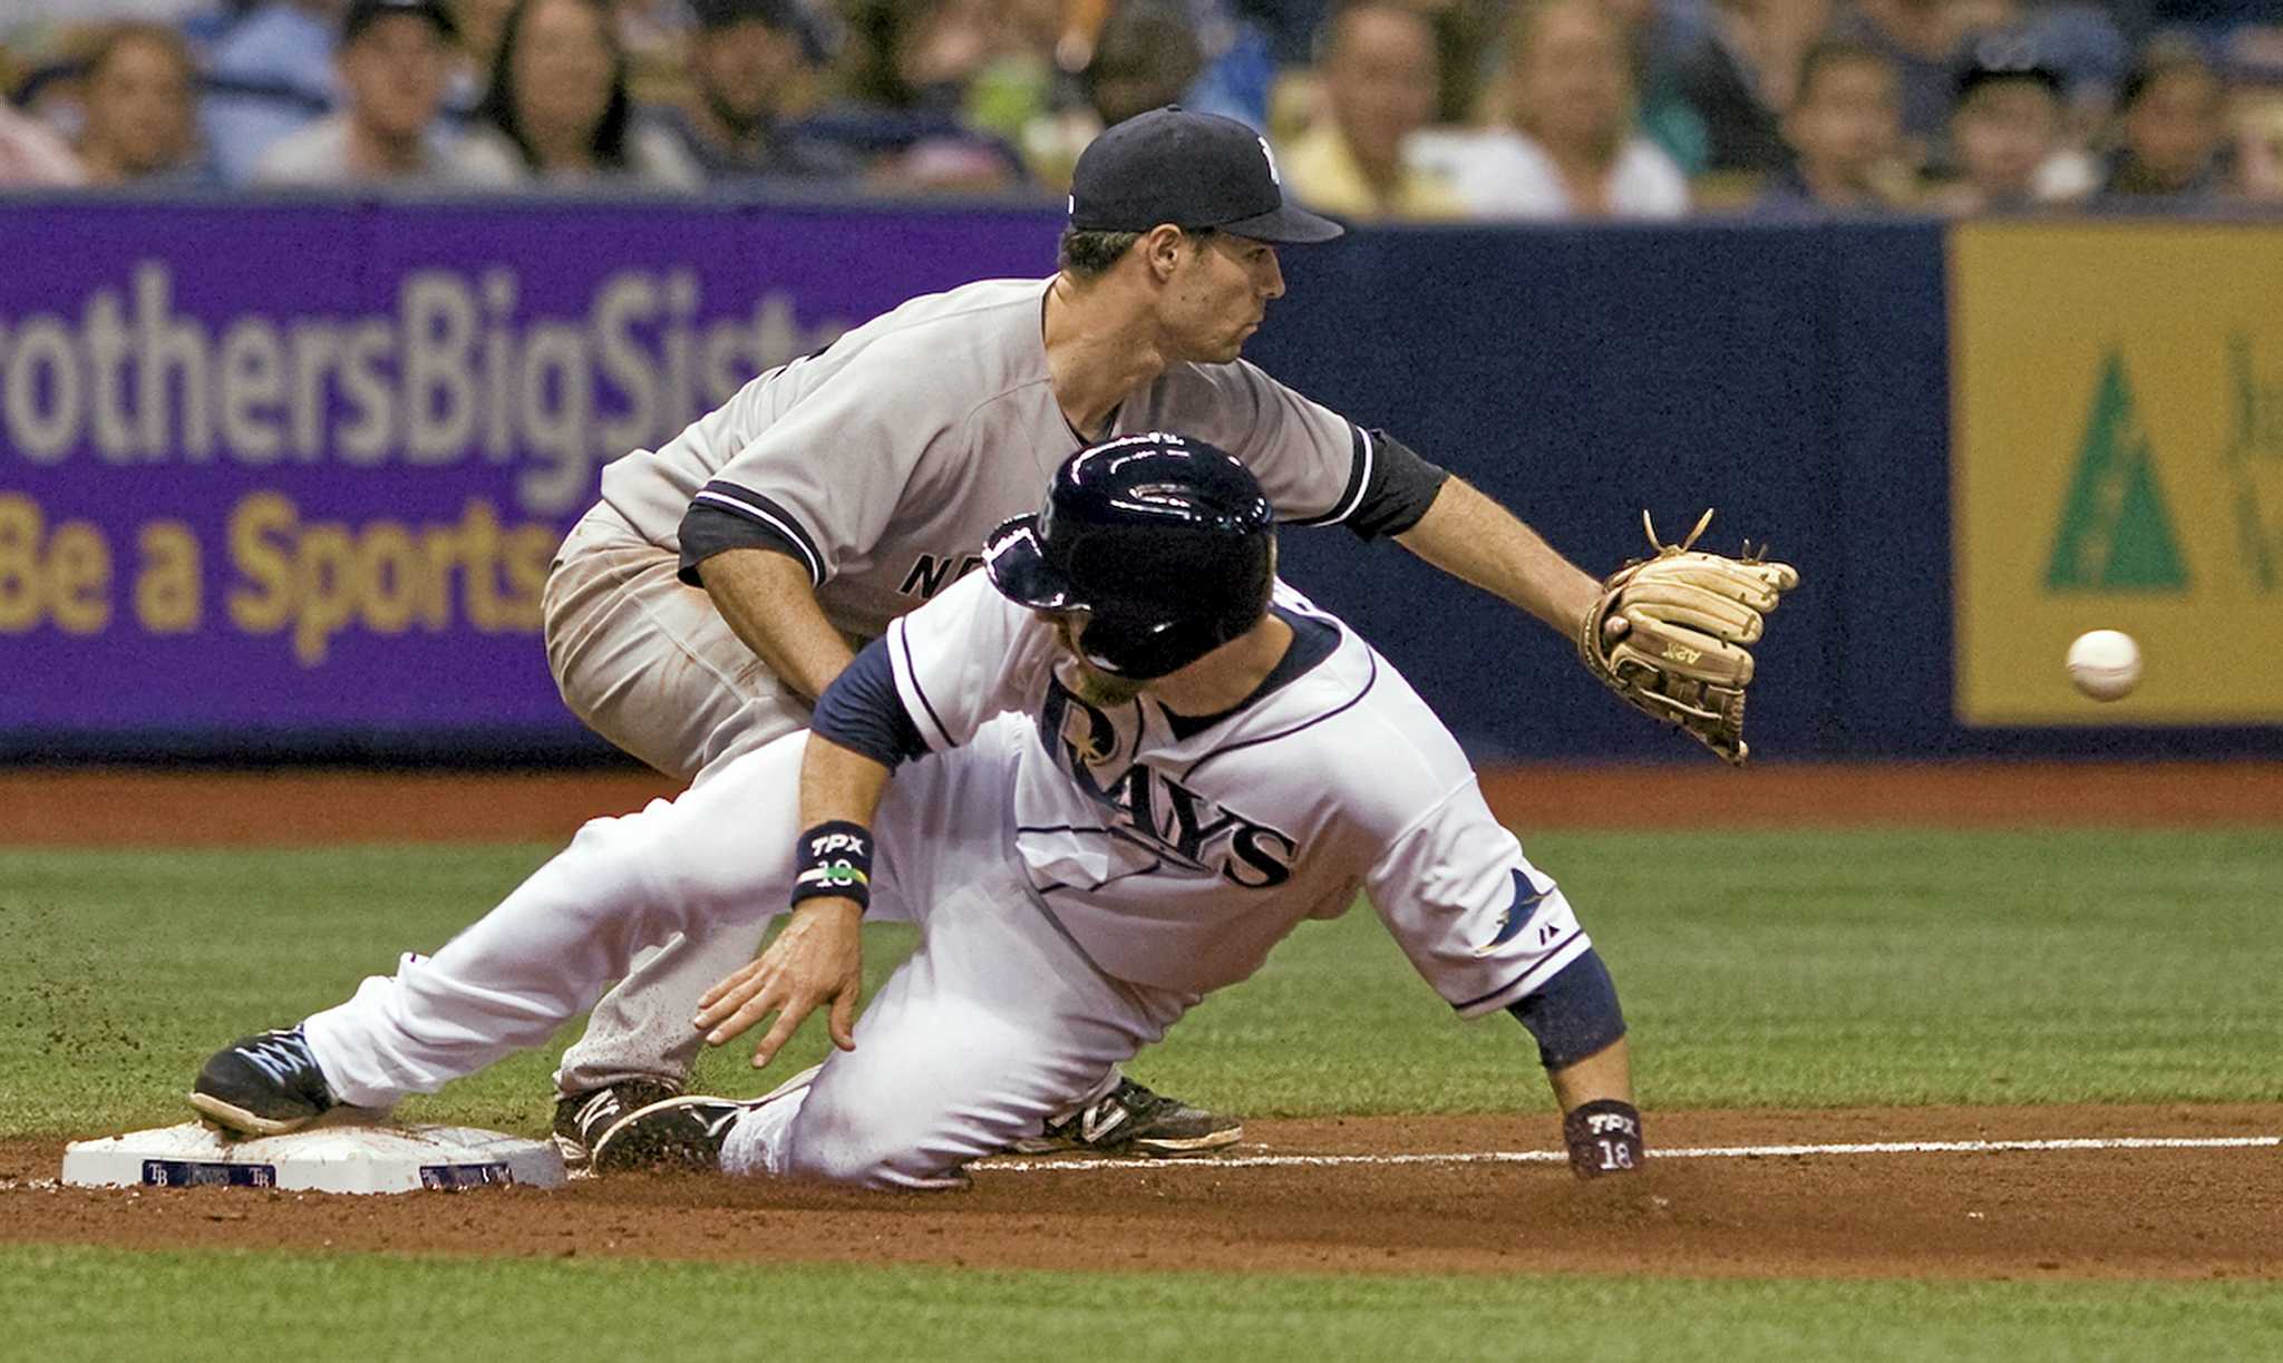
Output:
<instances>
[{"instance_id":1,"label":"padded stadium wall with purple, navy and yellow sections behind players","mask_svg":"<svg viewBox=\"0 0 2283 1363\"><path fill-rule=\"evenodd\" d=\"M537 639L603 461L895 301L1043 274L1000 210L0 205L0 756L580 758ZM2283 753L2283 231L1381 228L1249 352L1580 564L1774 541L1781 756ZM829 457L829 452L824 452ZM1687 758L1395 546L1285 537L1482 758ZM2066 692L2119 626L2148 683Z\"/></svg>"}]
</instances>

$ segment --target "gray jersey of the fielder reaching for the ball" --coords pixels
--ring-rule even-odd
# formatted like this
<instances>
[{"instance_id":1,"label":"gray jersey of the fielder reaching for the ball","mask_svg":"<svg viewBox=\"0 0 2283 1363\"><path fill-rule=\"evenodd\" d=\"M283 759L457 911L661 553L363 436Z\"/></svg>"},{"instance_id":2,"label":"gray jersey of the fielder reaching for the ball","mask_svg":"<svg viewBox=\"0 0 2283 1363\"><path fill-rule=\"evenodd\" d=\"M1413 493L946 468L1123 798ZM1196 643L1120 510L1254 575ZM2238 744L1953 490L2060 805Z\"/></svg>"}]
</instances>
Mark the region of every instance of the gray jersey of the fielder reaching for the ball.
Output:
<instances>
[{"instance_id":1,"label":"gray jersey of the fielder reaching for the ball","mask_svg":"<svg viewBox=\"0 0 2283 1363\"><path fill-rule=\"evenodd\" d=\"M909 304L769 370L658 452L603 470L603 500L683 580L726 548L792 555L838 628L890 619L973 571L984 537L1034 511L1087 441L1055 402L1052 279L993 279ZM1242 459L1301 525L1404 530L1441 470L1256 365L1180 363L1130 395L1114 432L1185 432Z\"/></svg>"}]
</instances>

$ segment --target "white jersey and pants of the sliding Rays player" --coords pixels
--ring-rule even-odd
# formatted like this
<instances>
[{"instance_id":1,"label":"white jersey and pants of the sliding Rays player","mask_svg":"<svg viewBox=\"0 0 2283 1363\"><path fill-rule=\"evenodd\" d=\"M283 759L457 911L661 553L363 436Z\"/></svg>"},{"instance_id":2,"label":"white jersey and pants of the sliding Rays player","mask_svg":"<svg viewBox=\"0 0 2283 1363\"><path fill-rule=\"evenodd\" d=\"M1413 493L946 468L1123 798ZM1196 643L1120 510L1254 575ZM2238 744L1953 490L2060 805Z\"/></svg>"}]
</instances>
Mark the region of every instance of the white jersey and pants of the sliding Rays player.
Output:
<instances>
[{"instance_id":1,"label":"white jersey and pants of the sliding Rays player","mask_svg":"<svg viewBox=\"0 0 2283 1363\"><path fill-rule=\"evenodd\" d=\"M865 1007L856 1050L737 1119L724 1169L957 1185L959 1164L1075 1110L1358 888L1468 1016L1589 950L1395 669L1281 584L1274 610L1292 646L1217 717L1082 703L1052 626L982 573L842 674L863 719L897 726L895 751L938 749L874 817L874 911L918 922L920 945ZM673 801L587 824L434 957L310 1016L326 1084L365 1107L434 1091L543 1043L676 934L751 952L799 870L806 744L788 733Z\"/></svg>"}]
</instances>

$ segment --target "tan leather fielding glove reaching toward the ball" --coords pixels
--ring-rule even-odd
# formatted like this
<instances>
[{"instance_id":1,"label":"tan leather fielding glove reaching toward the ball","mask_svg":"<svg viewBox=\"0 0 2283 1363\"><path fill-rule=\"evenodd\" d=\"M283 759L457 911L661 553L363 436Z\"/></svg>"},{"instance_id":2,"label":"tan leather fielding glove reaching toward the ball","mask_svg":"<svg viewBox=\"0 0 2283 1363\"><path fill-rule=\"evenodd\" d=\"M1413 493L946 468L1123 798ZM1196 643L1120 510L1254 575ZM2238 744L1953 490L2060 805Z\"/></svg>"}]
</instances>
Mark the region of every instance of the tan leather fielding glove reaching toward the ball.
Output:
<instances>
[{"instance_id":1,"label":"tan leather fielding glove reaching toward the ball","mask_svg":"<svg viewBox=\"0 0 2283 1363\"><path fill-rule=\"evenodd\" d=\"M1740 557L1694 548L1712 511L1680 543L1660 543L1641 511L1651 559L1635 559L1600 584L1600 600L1578 630L1587 671L1664 724L1678 724L1728 763L1742 765L1744 687L1767 612L1799 587L1790 564L1765 562L1746 543Z\"/></svg>"}]
</instances>

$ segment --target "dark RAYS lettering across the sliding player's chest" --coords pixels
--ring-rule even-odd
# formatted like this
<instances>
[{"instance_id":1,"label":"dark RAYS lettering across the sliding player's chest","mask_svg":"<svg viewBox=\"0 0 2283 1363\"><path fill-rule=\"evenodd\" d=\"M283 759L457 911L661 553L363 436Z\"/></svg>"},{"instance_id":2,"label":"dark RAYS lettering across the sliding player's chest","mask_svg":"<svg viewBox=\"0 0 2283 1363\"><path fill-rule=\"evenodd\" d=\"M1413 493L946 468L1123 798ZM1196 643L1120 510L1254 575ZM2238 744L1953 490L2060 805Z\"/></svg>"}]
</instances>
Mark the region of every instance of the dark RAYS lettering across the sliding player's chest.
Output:
<instances>
[{"instance_id":1,"label":"dark RAYS lettering across the sliding player's chest","mask_svg":"<svg viewBox=\"0 0 2283 1363\"><path fill-rule=\"evenodd\" d=\"M1135 760L1139 703L1121 708L1119 719L1112 719L1071 694L1062 678L1052 678L1036 719L1039 742L1107 815L1112 836L1247 890L1292 879L1299 842L1290 833L1253 822Z\"/></svg>"}]
</instances>

